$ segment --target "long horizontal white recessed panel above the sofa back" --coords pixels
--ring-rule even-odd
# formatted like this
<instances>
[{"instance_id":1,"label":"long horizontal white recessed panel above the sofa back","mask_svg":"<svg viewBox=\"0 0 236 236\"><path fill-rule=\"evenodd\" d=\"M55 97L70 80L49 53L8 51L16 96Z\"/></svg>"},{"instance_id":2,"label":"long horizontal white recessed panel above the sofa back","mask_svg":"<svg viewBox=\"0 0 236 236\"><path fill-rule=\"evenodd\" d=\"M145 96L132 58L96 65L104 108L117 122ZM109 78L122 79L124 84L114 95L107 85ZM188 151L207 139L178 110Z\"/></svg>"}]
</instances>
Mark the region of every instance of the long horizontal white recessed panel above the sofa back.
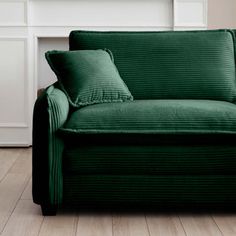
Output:
<instances>
[{"instance_id":1,"label":"long horizontal white recessed panel above the sofa back","mask_svg":"<svg viewBox=\"0 0 236 236\"><path fill-rule=\"evenodd\" d=\"M172 26L172 0L30 1L29 7L32 26Z\"/></svg>"}]
</instances>

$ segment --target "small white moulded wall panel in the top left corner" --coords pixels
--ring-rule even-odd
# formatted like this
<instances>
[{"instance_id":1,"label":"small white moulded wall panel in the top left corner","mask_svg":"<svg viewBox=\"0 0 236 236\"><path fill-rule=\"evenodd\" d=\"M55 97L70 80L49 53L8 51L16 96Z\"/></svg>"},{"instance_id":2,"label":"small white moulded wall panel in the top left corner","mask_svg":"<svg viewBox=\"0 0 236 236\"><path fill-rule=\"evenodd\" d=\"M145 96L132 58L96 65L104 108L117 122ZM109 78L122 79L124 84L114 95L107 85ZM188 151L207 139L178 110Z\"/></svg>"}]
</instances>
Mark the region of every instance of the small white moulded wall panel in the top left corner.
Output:
<instances>
[{"instance_id":1,"label":"small white moulded wall panel in the top left corner","mask_svg":"<svg viewBox=\"0 0 236 236\"><path fill-rule=\"evenodd\" d=\"M0 1L0 26L26 26L27 18L27 1Z\"/></svg>"}]
</instances>

